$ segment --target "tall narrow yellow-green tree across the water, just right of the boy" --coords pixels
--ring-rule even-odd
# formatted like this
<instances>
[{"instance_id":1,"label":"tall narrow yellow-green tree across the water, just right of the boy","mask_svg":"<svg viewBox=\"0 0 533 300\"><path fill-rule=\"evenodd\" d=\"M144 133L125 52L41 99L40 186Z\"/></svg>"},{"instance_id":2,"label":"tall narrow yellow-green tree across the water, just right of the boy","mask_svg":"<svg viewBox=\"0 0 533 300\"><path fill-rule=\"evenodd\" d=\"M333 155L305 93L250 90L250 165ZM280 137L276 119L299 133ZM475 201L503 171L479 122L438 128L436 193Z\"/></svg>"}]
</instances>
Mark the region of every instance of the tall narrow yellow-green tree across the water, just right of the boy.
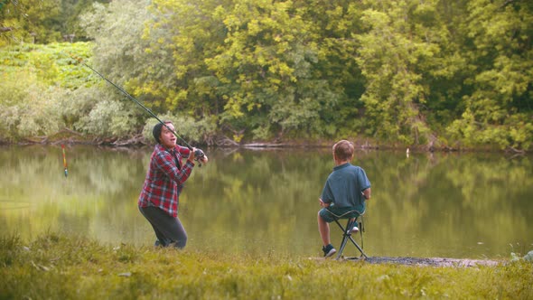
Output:
<instances>
[{"instance_id":1,"label":"tall narrow yellow-green tree across the water, just right of the boy","mask_svg":"<svg viewBox=\"0 0 533 300\"><path fill-rule=\"evenodd\" d=\"M360 41L359 63L368 85L362 96L369 117L370 135L407 145L427 142L429 127L421 114L429 87L420 62L440 52L432 41L432 28L412 19L419 1L366 3L361 20L366 30ZM425 10L435 15L433 4ZM424 139L420 140L421 137Z\"/></svg>"}]
</instances>

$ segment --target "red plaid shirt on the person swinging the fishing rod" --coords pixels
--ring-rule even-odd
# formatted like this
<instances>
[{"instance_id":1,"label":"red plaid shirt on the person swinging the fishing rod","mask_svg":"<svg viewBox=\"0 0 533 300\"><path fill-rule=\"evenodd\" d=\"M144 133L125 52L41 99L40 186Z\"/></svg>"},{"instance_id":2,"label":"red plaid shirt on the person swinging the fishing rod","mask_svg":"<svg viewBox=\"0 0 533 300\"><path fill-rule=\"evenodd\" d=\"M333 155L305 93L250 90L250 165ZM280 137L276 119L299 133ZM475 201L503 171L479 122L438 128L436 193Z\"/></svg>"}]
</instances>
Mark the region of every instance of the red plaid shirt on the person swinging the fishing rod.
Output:
<instances>
[{"instance_id":1,"label":"red plaid shirt on the person swinging the fishing rod","mask_svg":"<svg viewBox=\"0 0 533 300\"><path fill-rule=\"evenodd\" d=\"M191 175L194 166L189 161L182 165L182 158L189 157L190 152L189 148L181 145L176 145L172 150L166 150L163 145L155 145L143 191L139 196L140 207L155 206L173 218L178 216L183 183Z\"/></svg>"}]
</instances>

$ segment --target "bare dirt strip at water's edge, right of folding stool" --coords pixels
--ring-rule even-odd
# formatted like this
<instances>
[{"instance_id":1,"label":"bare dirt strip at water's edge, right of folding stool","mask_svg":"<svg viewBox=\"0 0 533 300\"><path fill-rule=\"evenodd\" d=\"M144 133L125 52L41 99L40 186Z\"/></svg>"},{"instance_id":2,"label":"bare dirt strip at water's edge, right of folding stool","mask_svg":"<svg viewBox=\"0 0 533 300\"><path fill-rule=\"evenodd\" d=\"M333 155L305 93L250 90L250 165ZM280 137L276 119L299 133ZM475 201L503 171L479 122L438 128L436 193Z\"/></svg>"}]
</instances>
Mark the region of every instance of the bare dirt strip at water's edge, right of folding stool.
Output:
<instances>
[{"instance_id":1,"label":"bare dirt strip at water's edge, right of folding stool","mask_svg":"<svg viewBox=\"0 0 533 300\"><path fill-rule=\"evenodd\" d=\"M397 264L409 266L431 266L431 267L477 267L477 266L498 266L504 261L490 259L468 259L468 258L344 258L344 260L365 261L370 264Z\"/></svg>"}]
</instances>

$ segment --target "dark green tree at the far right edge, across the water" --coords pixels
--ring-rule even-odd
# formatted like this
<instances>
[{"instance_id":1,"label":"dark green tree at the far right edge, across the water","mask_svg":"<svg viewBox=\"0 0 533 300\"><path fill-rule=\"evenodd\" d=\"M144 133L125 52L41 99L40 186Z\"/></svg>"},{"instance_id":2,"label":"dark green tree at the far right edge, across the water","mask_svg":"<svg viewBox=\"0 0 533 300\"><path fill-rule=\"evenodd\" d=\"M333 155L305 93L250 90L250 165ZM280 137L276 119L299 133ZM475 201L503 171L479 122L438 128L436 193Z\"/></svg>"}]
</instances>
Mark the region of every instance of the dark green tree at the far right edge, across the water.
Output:
<instances>
[{"instance_id":1,"label":"dark green tree at the far right edge, across the water","mask_svg":"<svg viewBox=\"0 0 533 300\"><path fill-rule=\"evenodd\" d=\"M533 143L533 5L472 0L463 52L473 70L465 81L462 117L449 131L466 145L528 149Z\"/></svg>"}]
</instances>

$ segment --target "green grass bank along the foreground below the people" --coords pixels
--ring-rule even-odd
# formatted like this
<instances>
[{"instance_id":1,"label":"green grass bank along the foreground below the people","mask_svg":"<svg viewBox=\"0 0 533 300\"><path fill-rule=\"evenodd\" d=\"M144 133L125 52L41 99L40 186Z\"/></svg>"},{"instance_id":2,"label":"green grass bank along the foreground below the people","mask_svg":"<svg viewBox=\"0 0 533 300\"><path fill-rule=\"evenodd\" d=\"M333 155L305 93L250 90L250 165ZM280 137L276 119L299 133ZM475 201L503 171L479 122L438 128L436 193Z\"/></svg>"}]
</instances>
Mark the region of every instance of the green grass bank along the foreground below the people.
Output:
<instances>
[{"instance_id":1,"label":"green grass bank along the foreground below the people","mask_svg":"<svg viewBox=\"0 0 533 300\"><path fill-rule=\"evenodd\" d=\"M533 265L412 267L0 238L0 299L533 298Z\"/></svg>"}]
</instances>

